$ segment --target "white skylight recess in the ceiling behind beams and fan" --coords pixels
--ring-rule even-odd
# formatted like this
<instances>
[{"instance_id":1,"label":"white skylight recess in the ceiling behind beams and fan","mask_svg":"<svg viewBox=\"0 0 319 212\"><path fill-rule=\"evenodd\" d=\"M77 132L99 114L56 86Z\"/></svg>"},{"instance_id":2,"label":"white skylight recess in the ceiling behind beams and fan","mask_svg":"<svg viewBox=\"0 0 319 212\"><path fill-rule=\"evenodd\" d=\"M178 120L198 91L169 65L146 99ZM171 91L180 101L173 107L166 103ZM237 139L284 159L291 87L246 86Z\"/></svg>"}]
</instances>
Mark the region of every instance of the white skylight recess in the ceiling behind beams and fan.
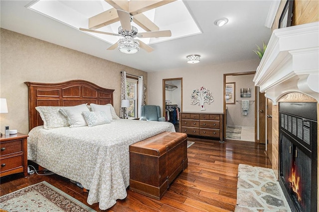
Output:
<instances>
[{"instance_id":1,"label":"white skylight recess in the ceiling behind beams and fan","mask_svg":"<svg viewBox=\"0 0 319 212\"><path fill-rule=\"evenodd\" d=\"M88 28L88 19L90 17L113 8L104 0L38 0L26 7L76 29ZM170 30L172 34L171 37L139 38L146 44L154 44L201 33L182 0L173 1L143 12L143 14L153 21L160 30ZM97 30L117 34L120 25L121 23L118 21ZM131 25L135 26L139 32L145 32L134 22ZM88 33L110 44L116 43L120 38L119 36L93 32L82 33Z\"/></svg>"}]
</instances>

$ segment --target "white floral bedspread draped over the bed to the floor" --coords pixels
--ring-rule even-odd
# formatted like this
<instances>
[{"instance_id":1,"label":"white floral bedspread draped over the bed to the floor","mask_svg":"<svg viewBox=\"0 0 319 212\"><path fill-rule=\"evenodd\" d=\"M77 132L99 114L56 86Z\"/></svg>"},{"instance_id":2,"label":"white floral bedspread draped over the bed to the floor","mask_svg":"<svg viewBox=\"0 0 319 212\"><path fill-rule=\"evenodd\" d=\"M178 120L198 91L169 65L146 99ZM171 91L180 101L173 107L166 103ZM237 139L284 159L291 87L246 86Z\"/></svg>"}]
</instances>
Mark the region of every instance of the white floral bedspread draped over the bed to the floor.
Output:
<instances>
[{"instance_id":1,"label":"white floral bedspread draped over the bed to the floor","mask_svg":"<svg viewBox=\"0 0 319 212\"><path fill-rule=\"evenodd\" d=\"M127 196L129 145L159 133L175 132L168 122L119 119L94 127L42 126L29 132L28 159L90 190L87 202L106 210Z\"/></svg>"}]
</instances>

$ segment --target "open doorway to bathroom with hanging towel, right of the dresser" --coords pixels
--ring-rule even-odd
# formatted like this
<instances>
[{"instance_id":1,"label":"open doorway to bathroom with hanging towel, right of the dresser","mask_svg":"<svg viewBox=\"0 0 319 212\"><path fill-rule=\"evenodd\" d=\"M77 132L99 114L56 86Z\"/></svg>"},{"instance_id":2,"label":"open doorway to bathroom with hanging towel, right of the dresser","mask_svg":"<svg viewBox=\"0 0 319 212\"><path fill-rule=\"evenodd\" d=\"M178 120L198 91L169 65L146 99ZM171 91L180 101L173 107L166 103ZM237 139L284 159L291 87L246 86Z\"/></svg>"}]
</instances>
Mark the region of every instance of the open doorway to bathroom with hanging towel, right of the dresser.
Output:
<instances>
[{"instance_id":1,"label":"open doorway to bathroom with hanging towel, right of the dresser","mask_svg":"<svg viewBox=\"0 0 319 212\"><path fill-rule=\"evenodd\" d=\"M255 73L256 71L224 74L225 121L223 128L225 139L256 141L257 98L253 82ZM226 90L226 85L231 90Z\"/></svg>"}]
</instances>

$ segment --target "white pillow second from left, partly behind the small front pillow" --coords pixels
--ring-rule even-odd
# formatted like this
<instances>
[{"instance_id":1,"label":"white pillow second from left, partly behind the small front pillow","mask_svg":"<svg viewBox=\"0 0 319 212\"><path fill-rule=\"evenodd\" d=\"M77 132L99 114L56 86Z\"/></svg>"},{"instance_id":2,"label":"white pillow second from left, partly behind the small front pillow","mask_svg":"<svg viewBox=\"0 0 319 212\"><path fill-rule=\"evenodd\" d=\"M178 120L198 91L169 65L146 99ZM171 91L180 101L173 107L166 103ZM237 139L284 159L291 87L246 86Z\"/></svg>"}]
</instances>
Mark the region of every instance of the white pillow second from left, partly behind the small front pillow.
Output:
<instances>
[{"instance_id":1,"label":"white pillow second from left, partly behind the small front pillow","mask_svg":"<svg viewBox=\"0 0 319 212\"><path fill-rule=\"evenodd\" d=\"M81 104L81 105L76 105L71 107L63 107L60 109L60 112L65 117L67 117L68 122L70 124L70 128L87 126L86 121L82 114L82 112L90 112L86 104Z\"/></svg>"}]
</instances>

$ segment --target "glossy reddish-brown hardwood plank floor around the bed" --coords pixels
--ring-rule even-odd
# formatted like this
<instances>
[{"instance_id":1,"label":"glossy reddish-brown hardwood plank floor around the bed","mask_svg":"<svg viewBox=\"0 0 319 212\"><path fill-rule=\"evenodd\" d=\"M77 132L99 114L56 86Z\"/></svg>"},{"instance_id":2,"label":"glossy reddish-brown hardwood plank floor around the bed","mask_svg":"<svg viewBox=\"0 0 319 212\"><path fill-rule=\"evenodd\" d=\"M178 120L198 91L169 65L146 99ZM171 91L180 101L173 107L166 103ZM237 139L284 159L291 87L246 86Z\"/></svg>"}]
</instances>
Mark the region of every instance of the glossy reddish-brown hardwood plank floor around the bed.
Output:
<instances>
[{"instance_id":1,"label":"glossy reddish-brown hardwood plank floor around the bed","mask_svg":"<svg viewBox=\"0 0 319 212\"><path fill-rule=\"evenodd\" d=\"M188 167L170 185L161 200L128 190L124 200L108 212L227 212L234 211L237 195L238 165L248 164L271 168L264 144L248 141L218 141L188 138L195 143L187 149ZM1 178L0 196L46 181L68 195L86 203L87 193L68 179L36 174L24 178L14 174ZM100 211L98 204L88 205Z\"/></svg>"}]
</instances>

